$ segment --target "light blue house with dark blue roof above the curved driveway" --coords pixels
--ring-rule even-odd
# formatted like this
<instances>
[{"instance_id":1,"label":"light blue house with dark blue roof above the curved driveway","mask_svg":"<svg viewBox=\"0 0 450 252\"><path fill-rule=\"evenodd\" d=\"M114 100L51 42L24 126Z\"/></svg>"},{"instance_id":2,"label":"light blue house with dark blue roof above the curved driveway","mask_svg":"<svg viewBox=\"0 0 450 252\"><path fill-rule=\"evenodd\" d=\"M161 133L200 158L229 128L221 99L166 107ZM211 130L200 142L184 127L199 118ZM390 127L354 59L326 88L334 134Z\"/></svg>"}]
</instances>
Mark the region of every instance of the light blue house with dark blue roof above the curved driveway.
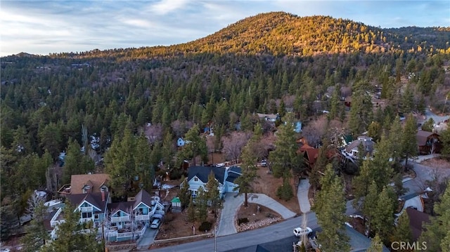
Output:
<instances>
[{"instance_id":1,"label":"light blue house with dark blue roof above the curved driveway","mask_svg":"<svg viewBox=\"0 0 450 252\"><path fill-rule=\"evenodd\" d=\"M237 186L234 184L234 180L241 174L240 168L237 166L191 166L188 168L187 181L193 197L197 196L200 187L205 188L211 172L214 173L214 178L219 183L217 189L219 189L221 197L224 197L226 192L233 192L233 188Z\"/></svg>"}]
</instances>

